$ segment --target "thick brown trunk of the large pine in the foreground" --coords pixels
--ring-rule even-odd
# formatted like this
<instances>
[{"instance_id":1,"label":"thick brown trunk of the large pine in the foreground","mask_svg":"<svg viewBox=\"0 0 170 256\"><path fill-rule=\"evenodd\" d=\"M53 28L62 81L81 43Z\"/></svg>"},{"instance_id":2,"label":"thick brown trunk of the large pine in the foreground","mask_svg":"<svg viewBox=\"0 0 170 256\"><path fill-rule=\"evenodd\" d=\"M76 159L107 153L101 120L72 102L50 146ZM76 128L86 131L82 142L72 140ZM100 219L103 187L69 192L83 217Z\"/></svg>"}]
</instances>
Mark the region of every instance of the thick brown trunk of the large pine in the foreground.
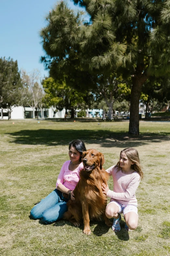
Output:
<instances>
[{"instance_id":1,"label":"thick brown trunk of the large pine in the foreground","mask_svg":"<svg viewBox=\"0 0 170 256\"><path fill-rule=\"evenodd\" d=\"M132 79L129 134L139 135L139 100L143 83L139 77Z\"/></svg>"}]
</instances>

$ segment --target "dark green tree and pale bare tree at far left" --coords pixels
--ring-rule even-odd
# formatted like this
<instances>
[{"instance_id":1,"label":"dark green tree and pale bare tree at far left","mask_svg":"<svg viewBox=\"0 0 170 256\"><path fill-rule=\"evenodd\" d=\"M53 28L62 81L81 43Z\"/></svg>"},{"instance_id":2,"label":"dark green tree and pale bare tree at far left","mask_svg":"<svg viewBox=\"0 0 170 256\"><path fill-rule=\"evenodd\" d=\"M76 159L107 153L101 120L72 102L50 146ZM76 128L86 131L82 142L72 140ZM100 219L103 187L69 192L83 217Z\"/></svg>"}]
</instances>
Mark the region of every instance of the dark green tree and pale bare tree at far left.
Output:
<instances>
[{"instance_id":1,"label":"dark green tree and pale bare tree at far left","mask_svg":"<svg viewBox=\"0 0 170 256\"><path fill-rule=\"evenodd\" d=\"M0 109L3 119L3 109L7 110L8 119L17 106L29 106L35 110L42 110L44 106L44 91L39 82L39 71L33 70L31 74L18 70L17 60L0 58Z\"/></svg>"}]
</instances>

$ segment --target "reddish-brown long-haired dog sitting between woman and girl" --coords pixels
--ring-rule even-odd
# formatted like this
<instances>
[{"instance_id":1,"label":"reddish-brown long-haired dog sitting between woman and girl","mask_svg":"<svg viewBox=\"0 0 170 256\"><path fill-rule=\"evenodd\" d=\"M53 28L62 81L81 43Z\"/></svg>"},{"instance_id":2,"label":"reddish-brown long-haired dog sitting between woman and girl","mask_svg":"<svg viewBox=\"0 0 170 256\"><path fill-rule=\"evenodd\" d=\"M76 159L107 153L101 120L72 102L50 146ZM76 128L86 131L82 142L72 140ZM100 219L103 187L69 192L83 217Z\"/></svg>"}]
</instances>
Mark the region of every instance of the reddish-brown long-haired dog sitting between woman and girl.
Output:
<instances>
[{"instance_id":1,"label":"reddish-brown long-haired dog sitting between woman and girl","mask_svg":"<svg viewBox=\"0 0 170 256\"><path fill-rule=\"evenodd\" d=\"M107 204L106 195L102 193L102 183L107 184L108 173L102 168L104 156L95 149L83 152L83 164L93 166L93 169L80 171L80 180L74 189L75 200L67 202L68 211L64 213L64 219L69 220L78 227L83 219L83 233L90 235L90 219L98 218L101 214L108 227L112 223L106 217L105 209Z\"/></svg>"}]
</instances>

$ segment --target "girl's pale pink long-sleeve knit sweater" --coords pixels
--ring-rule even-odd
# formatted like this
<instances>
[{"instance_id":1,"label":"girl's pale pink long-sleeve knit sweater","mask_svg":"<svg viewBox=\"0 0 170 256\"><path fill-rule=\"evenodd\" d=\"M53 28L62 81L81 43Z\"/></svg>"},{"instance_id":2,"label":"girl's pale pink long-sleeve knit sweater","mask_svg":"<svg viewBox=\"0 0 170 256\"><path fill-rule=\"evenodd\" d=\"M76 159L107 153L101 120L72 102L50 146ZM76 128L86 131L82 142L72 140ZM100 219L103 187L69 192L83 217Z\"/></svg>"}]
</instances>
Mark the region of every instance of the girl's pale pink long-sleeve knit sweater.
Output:
<instances>
[{"instance_id":1,"label":"girl's pale pink long-sleeve knit sweater","mask_svg":"<svg viewBox=\"0 0 170 256\"><path fill-rule=\"evenodd\" d=\"M109 189L106 196L111 197L110 201L116 200L120 204L137 206L135 191L140 182L140 175L136 171L131 174L124 174L121 170L117 172L115 166L106 170L110 176L113 176L113 191Z\"/></svg>"}]
</instances>

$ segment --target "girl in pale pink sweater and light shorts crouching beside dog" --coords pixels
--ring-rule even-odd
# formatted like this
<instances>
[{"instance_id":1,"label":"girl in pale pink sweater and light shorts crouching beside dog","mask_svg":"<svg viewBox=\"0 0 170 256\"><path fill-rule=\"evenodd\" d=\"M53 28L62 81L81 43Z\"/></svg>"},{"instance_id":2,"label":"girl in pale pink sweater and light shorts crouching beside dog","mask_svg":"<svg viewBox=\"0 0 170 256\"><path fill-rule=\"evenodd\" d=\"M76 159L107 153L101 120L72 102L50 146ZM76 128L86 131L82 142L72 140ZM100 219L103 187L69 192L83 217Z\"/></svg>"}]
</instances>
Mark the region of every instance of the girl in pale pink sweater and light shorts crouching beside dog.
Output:
<instances>
[{"instance_id":1,"label":"girl in pale pink sweater and light shorts crouching beside dog","mask_svg":"<svg viewBox=\"0 0 170 256\"><path fill-rule=\"evenodd\" d=\"M114 188L111 191L108 185L102 184L103 193L111 197L106 207L106 216L113 219L112 230L120 231L120 220L123 213L125 229L135 230L138 224L137 199L135 191L144 173L136 149L128 147L120 152L120 159L116 165L106 170L113 176Z\"/></svg>"}]
</instances>

